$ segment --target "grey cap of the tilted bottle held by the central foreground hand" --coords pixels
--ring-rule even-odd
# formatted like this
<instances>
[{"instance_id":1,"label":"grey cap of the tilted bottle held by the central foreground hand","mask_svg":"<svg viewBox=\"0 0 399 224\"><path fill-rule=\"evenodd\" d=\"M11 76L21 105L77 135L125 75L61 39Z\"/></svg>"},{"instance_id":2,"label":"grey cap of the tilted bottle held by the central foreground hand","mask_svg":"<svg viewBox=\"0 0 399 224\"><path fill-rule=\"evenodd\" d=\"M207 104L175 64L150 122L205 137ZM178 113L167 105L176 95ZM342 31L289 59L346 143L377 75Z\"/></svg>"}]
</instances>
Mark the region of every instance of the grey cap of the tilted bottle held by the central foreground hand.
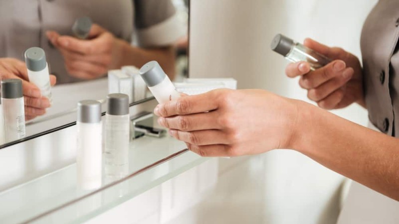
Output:
<instances>
[{"instance_id":1,"label":"grey cap of the tilted bottle held by the central foreground hand","mask_svg":"<svg viewBox=\"0 0 399 224\"><path fill-rule=\"evenodd\" d=\"M143 65L140 69L140 75L149 87L158 85L166 77L164 70L156 61L150 61Z\"/></svg>"}]
</instances>

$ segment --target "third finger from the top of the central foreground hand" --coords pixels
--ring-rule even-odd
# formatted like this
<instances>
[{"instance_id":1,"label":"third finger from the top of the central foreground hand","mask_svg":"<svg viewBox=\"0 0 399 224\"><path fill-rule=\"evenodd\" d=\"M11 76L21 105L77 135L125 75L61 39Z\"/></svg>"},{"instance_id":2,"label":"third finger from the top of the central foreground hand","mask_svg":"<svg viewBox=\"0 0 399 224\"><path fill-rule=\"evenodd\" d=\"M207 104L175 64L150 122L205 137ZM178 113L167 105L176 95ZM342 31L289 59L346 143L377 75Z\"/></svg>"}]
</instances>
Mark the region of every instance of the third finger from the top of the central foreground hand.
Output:
<instances>
[{"instance_id":1,"label":"third finger from the top of the central foreground hand","mask_svg":"<svg viewBox=\"0 0 399 224\"><path fill-rule=\"evenodd\" d=\"M227 136L220 130L181 131L170 129L169 134L178 140L193 145L229 144Z\"/></svg>"}]
</instances>

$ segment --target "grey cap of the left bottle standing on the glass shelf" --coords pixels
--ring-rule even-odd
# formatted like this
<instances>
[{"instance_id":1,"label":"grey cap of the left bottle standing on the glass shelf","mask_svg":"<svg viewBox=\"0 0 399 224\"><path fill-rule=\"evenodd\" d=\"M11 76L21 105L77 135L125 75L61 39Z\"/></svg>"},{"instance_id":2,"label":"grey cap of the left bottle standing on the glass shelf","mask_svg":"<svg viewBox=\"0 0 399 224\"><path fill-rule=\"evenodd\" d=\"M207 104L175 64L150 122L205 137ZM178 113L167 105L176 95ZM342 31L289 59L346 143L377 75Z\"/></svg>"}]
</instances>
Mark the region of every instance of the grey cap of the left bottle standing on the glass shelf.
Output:
<instances>
[{"instance_id":1,"label":"grey cap of the left bottle standing on the glass shelf","mask_svg":"<svg viewBox=\"0 0 399 224\"><path fill-rule=\"evenodd\" d=\"M98 123L101 121L101 103L85 100L78 103L78 119L82 123Z\"/></svg>"}]
</instances>

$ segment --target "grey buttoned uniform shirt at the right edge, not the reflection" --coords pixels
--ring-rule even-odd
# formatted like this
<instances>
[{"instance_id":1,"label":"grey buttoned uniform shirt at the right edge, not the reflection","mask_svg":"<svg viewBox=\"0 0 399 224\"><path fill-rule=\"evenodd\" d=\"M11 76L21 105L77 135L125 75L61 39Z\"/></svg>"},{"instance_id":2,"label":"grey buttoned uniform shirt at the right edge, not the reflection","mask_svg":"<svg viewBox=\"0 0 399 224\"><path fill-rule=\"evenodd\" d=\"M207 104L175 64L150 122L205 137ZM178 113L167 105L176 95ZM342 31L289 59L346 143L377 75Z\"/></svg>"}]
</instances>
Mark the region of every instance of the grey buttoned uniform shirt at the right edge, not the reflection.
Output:
<instances>
[{"instance_id":1,"label":"grey buttoned uniform shirt at the right edge, not the reflection","mask_svg":"<svg viewBox=\"0 0 399 224\"><path fill-rule=\"evenodd\" d=\"M364 91L370 121L399 136L399 0L380 0L361 37Z\"/></svg>"}]
</instances>

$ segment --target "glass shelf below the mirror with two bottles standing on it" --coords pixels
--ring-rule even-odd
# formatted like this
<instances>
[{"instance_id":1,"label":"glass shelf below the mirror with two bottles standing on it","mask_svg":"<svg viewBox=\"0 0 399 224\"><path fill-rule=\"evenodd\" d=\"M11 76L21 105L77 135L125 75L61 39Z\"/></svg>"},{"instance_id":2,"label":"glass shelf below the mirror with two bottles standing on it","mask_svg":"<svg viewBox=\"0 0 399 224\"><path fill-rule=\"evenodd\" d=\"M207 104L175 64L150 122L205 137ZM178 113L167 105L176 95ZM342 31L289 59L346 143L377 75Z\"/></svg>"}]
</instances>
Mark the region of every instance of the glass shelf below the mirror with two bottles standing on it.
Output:
<instances>
[{"instance_id":1,"label":"glass shelf below the mirror with two bottles standing on it","mask_svg":"<svg viewBox=\"0 0 399 224\"><path fill-rule=\"evenodd\" d=\"M102 186L81 190L76 163L0 193L0 223L80 223L206 160L170 136L130 143L124 177L104 175ZM104 165L103 165L104 170Z\"/></svg>"}]
</instances>

